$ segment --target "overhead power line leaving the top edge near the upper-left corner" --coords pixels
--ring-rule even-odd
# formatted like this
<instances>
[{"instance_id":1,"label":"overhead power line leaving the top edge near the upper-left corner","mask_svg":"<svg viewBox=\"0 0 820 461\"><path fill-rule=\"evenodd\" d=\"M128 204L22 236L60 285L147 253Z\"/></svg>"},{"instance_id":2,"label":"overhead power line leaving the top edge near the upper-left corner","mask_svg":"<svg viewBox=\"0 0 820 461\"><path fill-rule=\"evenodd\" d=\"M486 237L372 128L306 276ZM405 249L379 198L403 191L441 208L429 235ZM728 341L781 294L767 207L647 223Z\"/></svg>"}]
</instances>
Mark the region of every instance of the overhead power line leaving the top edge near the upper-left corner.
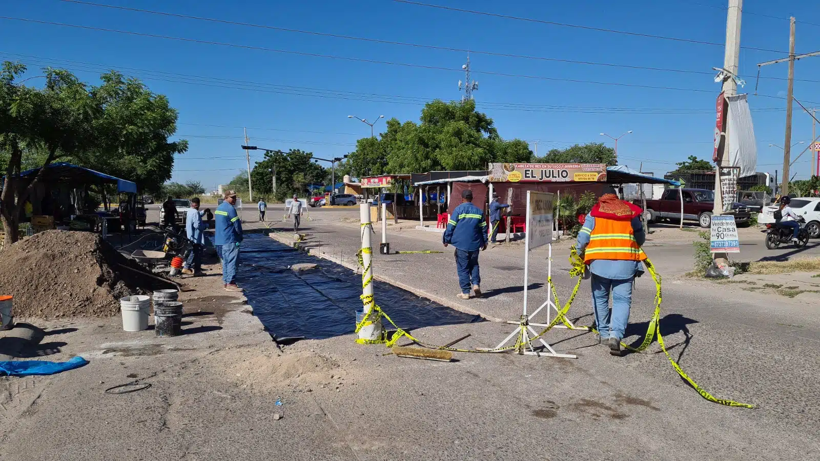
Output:
<instances>
[{"instance_id":1,"label":"overhead power line leaving the top edge near the upper-left corner","mask_svg":"<svg viewBox=\"0 0 820 461\"><path fill-rule=\"evenodd\" d=\"M171 16L176 18L183 18L183 19L191 19L195 21L208 21L208 22L215 22L219 24L227 24L227 25L240 25L244 27L253 27L259 29L266 29L266 30L278 30L282 32L292 32L297 34L308 34L308 35L316 35L320 37L330 37L334 39L347 39L347 40L358 40L362 42L370 42L370 43L383 43L383 44L390 44L390 45L400 45L406 47L413 47L413 48L427 48L427 49L435 49L441 51L452 51L452 52L472 52L476 54L485 54L489 56L498 56L498 57L516 57L522 59L532 59L532 60L539 60L539 61L549 61L549 62L565 62L569 64L582 64L587 66L607 66L607 67L617 67L623 69L634 69L640 71L663 71L663 72L675 72L675 73L682 73L682 74L695 74L695 75L713 75L714 72L711 71L688 71L684 69L669 69L664 67L652 67L652 66L631 66L628 64L614 64L610 62L590 62L590 61L578 61L572 59L562 59L557 57L541 57L541 56L531 56L531 55L522 55L522 54L514 54L508 52L491 52L491 51L482 51L482 50L475 50L475 49L467 49L467 48L453 48L453 47L445 47L439 45L425 45L421 43L409 43L409 42L399 42L394 40L385 40L385 39L371 39L367 37L355 37L351 35L344 35L344 34L331 34L327 32L317 32L313 30L298 30L298 29L290 29L285 27L277 27L274 25L263 25L263 24L256 24L256 23L249 23L249 22L241 22L241 21L229 21L223 20L218 18L212 17L204 17L204 16L192 16L192 15L184 15L180 13L171 13L168 11L156 11L156 10L146 10L142 8L133 8L133 7L120 7L116 5L107 5L104 3L94 3L94 2L81 2L80 0L59 0L61 2L69 2L69 3L76 3L79 5L85 5L90 7L103 7L103 8L112 8L116 10L122 11L134 11L134 12L141 12L141 13L148 13L153 15L160 15L160 16ZM744 76L744 75L740 75ZM751 77L748 77L751 78ZM768 80L786 80L784 77L760 77ZM812 80L809 80L812 81ZM820 80L814 80L817 83L820 83Z\"/></svg>"}]
</instances>

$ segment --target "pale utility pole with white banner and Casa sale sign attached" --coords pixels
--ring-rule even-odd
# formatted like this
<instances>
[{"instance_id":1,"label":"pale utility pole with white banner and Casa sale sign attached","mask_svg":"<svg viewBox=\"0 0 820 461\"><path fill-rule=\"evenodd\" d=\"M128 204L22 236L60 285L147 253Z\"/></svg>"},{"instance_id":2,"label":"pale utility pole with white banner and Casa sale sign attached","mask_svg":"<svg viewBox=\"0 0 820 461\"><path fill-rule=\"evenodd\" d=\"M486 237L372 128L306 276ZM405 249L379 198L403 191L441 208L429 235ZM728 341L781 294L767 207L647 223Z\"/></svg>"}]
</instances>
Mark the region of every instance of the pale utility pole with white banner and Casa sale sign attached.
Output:
<instances>
[{"instance_id":1,"label":"pale utility pole with white banner and Casa sale sign attached","mask_svg":"<svg viewBox=\"0 0 820 461\"><path fill-rule=\"evenodd\" d=\"M726 51L723 54L723 69L730 72L730 75L723 80L723 95L724 97L735 96L737 94L737 81L735 75L738 73L738 66L740 62L740 16L743 8L743 0L729 0L729 7L727 9L726 17ZM715 199L714 207L712 208L713 216L720 216L723 214L723 196L720 180L721 167L729 166L729 126L728 117L731 117L731 111L727 113L727 128L726 135L723 138L723 153L717 159L715 165ZM683 192L681 191L681 194ZM725 266L729 263L729 255L727 253L713 253L716 266Z\"/></svg>"}]
</instances>

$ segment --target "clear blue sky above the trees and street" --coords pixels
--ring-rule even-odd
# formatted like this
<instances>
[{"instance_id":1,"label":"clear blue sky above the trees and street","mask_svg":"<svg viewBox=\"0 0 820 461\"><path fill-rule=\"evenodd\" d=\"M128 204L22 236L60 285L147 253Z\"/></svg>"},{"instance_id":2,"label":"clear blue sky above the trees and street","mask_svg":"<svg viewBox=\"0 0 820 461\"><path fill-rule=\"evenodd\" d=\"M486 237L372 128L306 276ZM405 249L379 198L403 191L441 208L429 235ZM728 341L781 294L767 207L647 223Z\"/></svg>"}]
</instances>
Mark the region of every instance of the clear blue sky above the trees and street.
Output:
<instances>
[{"instance_id":1,"label":"clear blue sky above the trees and street","mask_svg":"<svg viewBox=\"0 0 820 461\"><path fill-rule=\"evenodd\" d=\"M656 174L671 170L674 162L688 155L709 158L712 152L714 101L720 89L713 82L711 68L722 66L722 46L517 21L391 0L96 2L323 34L471 49L473 78L480 84L476 101L493 117L505 139L539 139L538 149L543 154L549 148L608 141L599 135L601 132L617 136L633 130L618 144L621 163L637 168L644 162L644 171ZM421 2L710 43L723 43L726 34L727 2L719 0ZM740 74L747 84L740 92L754 94L758 62L786 56L789 16L799 21L797 52L820 50L820 3L799 0L789 2L787 8L777 3L745 2L741 45L774 51L741 50ZM208 188L228 182L245 166L244 151L239 148L243 126L248 127L251 144L302 148L317 157L343 155L353 150L356 139L370 134L368 126L348 119L348 115L417 121L422 101L461 97L457 84L464 75L459 69L467 57L462 51L228 25L60 0L4 2L0 11L0 16L251 47L0 19L0 59L25 62L33 71L42 66L65 67L94 84L102 71L118 69L139 76L153 91L168 95L180 111L177 133L190 141L189 152L175 162L173 180L201 180ZM271 51L275 49L280 52ZM626 69L485 52L706 73ZM782 151L768 144L783 144L786 71L786 63L766 66L762 76L783 80L759 80L758 94L781 98L749 99L758 139L758 171L781 169L777 164L782 162ZM820 57L797 62L795 78L816 80L795 82L795 97L814 102L807 107L820 108ZM585 107L665 112L593 113ZM383 123L376 128L383 128ZM795 111L793 142L808 144L811 130L809 116ZM794 155L806 144L796 147ZM808 176L808 160L806 153L792 167L798 179Z\"/></svg>"}]
</instances>

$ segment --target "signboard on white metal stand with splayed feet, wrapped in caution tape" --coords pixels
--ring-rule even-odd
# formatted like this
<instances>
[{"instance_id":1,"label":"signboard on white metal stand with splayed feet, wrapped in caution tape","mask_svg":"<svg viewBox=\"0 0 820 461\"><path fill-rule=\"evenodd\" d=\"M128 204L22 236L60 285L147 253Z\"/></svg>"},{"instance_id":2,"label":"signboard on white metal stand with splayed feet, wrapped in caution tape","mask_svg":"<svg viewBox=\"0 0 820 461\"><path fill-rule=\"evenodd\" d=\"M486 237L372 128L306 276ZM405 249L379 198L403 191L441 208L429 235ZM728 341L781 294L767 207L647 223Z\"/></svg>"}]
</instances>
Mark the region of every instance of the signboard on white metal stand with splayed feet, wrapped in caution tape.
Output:
<instances>
[{"instance_id":1,"label":"signboard on white metal stand with splayed feet, wrapped in caution tape","mask_svg":"<svg viewBox=\"0 0 820 461\"><path fill-rule=\"evenodd\" d=\"M522 338L520 347L516 349L508 349L517 354L535 355L537 357L560 357L560 358L578 358L573 354L558 354L555 349L543 337L538 338L541 345L546 349L544 352L536 351L532 345L531 338L538 336L533 326L540 326L542 328L548 326L544 323L531 323L533 317L540 313L541 309L547 308L548 322L549 322L549 307L552 307L558 312L558 307L549 299L551 294L551 287L549 282L547 285L547 300L541 304L535 312L527 312L527 285L529 285L530 275L530 250L540 247L541 245L549 245L549 258L547 262L548 276L552 276L552 256L553 256L553 194L545 192L535 192L532 190L526 191L526 238L524 240L524 308L522 316L517 321L508 320L507 323L512 323L518 327L512 331L510 335L504 338L503 341L494 349L501 349L510 340L516 340L518 337ZM549 280L549 279L548 279ZM537 346L537 345L536 345ZM485 350L494 350L485 349ZM499 351L506 352L506 351Z\"/></svg>"}]
</instances>

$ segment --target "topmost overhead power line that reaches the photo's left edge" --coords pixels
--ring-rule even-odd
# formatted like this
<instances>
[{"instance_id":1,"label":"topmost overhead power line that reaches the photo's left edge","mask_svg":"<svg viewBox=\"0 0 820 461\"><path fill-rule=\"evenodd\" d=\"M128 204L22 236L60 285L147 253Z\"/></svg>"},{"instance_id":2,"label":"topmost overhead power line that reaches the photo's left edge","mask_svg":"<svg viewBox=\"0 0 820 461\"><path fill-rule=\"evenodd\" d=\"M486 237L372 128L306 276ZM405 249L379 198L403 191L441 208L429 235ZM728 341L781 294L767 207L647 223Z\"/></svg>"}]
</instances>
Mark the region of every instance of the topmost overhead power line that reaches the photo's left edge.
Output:
<instances>
[{"instance_id":1,"label":"topmost overhead power line that reaches the photo's left edge","mask_svg":"<svg viewBox=\"0 0 820 461\"><path fill-rule=\"evenodd\" d=\"M266 51L266 52L281 52L286 54L295 54L299 56L307 56L307 57L326 57L331 59L339 59L342 61L351 61L351 62L369 62L372 64L385 64L390 66L406 66L406 67L416 67L420 69L427 69L433 71L461 71L460 69L453 69L449 67L441 67L441 66L426 66L422 64L410 64L407 62L389 62L389 61L379 61L375 59L365 59L361 57L342 57L342 56L335 56L335 55L327 55L327 54L320 54L320 53L313 53L313 52L298 52L292 50L282 50L276 48L265 48L265 47L257 47L253 45L241 45L237 43L224 43L224 42L214 42L211 40L200 40L200 39L186 39L183 37L171 37L169 35L160 35L160 34L147 34L143 32L132 32L129 30L116 30L116 29L106 29L102 27L91 27L89 25L76 25L76 24L66 24L62 22L53 22L53 21L39 21L27 18L17 18L17 17L10 17L10 16L0 16L0 19L5 19L9 21L24 21L24 22L31 22L35 24L47 24L47 25L60 25L63 27L72 27L76 29L84 29L84 30L98 30L102 32L113 32L117 34L128 34L128 35L135 35L141 37L150 37L154 39L169 39L169 40L177 40L181 42L189 42L189 43L202 43L202 44L211 44L211 45L219 45L231 48L242 48L242 49L251 49L257 51ZM588 83L588 84L603 84L608 86L623 86L623 87L631 87L631 88L645 88L645 89L668 89L668 90L675 90L675 91L692 91L698 93L714 93L712 89L688 89L688 88L676 88L676 87L664 87L664 86L653 86L653 85L645 85L645 84L623 84L623 83L613 83L613 82L599 82L594 80L576 80L576 79L561 79L557 77L546 77L541 75L520 75L520 74L508 74L504 72L490 72L490 71L474 71L476 74L485 74L485 75L499 75L499 76L507 76L507 77L518 77L518 78L526 78L526 79L536 79L536 80L549 80L549 81L566 81L572 83Z\"/></svg>"}]
</instances>

